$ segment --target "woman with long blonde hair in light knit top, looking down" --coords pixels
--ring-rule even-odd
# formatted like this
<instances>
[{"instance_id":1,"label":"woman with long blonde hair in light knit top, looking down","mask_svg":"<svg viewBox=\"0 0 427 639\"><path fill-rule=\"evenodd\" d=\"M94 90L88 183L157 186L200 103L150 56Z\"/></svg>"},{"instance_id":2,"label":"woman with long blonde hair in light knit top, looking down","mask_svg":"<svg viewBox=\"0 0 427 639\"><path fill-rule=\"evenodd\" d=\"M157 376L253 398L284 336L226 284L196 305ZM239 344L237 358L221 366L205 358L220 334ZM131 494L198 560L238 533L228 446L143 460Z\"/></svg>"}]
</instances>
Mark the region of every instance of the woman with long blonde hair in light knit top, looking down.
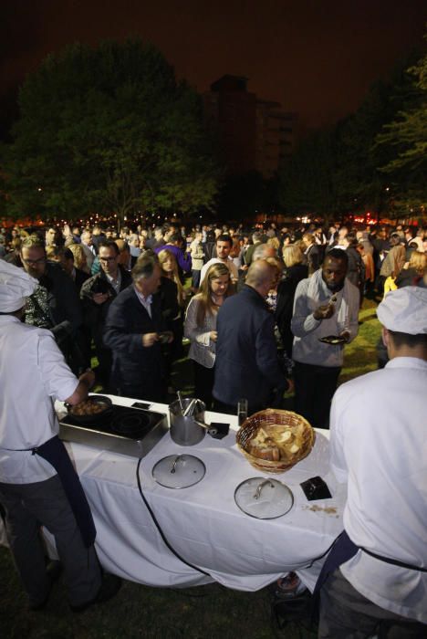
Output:
<instances>
[{"instance_id":1,"label":"woman with long blonde hair in light knit top, looking down","mask_svg":"<svg viewBox=\"0 0 427 639\"><path fill-rule=\"evenodd\" d=\"M194 393L207 409L213 401L216 316L231 292L230 271L221 262L213 264L203 278L200 293L188 305L185 317L184 336L191 341L188 357L194 365Z\"/></svg>"}]
</instances>

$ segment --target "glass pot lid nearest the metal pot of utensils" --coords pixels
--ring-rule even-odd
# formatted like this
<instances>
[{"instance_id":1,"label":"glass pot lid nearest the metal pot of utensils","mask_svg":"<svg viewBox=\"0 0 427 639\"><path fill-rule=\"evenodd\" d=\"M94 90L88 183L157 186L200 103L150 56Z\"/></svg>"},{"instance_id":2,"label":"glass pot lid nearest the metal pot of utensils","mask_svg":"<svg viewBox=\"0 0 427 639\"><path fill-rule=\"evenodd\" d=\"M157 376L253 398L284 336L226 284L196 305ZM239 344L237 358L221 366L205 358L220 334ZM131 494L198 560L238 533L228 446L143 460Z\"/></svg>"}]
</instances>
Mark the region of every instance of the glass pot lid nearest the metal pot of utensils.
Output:
<instances>
[{"instance_id":1,"label":"glass pot lid nearest the metal pot of utensils","mask_svg":"<svg viewBox=\"0 0 427 639\"><path fill-rule=\"evenodd\" d=\"M152 477L166 488L188 488L204 477L206 466L193 455L169 455L152 468Z\"/></svg>"}]
</instances>

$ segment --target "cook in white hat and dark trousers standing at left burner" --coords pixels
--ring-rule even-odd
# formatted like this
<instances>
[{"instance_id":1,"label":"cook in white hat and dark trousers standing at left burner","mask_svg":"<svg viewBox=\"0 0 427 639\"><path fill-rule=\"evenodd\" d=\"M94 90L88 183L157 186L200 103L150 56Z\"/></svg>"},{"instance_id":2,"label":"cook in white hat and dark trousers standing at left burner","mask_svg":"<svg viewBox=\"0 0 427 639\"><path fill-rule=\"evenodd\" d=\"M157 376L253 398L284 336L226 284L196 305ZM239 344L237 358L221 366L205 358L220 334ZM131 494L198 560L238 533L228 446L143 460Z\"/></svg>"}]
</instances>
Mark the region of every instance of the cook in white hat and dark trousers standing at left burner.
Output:
<instances>
[{"instance_id":1,"label":"cook in white hat and dark trousers standing at left burner","mask_svg":"<svg viewBox=\"0 0 427 639\"><path fill-rule=\"evenodd\" d=\"M53 401L76 404L94 381L70 371L50 330L22 322L37 280L0 260L0 503L31 610L45 606L58 566L46 565L40 525L55 537L74 612L120 587L102 577L89 504L58 439ZM53 568L53 570L51 570Z\"/></svg>"}]
</instances>

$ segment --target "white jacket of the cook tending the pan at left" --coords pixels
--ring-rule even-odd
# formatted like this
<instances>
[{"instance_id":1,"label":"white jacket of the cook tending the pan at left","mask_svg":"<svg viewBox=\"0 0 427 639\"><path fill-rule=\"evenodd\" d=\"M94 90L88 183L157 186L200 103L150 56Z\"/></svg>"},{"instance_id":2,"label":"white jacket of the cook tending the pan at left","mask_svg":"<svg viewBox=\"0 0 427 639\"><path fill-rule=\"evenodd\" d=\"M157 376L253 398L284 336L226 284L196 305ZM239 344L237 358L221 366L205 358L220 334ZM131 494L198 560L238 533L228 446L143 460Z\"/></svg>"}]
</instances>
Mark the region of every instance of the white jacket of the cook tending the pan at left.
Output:
<instances>
[{"instance_id":1,"label":"white jacket of the cook tending the pan at left","mask_svg":"<svg viewBox=\"0 0 427 639\"><path fill-rule=\"evenodd\" d=\"M0 482L31 484L56 474L40 456L21 449L57 435L53 402L78 386L52 333L0 315Z\"/></svg>"}]
</instances>

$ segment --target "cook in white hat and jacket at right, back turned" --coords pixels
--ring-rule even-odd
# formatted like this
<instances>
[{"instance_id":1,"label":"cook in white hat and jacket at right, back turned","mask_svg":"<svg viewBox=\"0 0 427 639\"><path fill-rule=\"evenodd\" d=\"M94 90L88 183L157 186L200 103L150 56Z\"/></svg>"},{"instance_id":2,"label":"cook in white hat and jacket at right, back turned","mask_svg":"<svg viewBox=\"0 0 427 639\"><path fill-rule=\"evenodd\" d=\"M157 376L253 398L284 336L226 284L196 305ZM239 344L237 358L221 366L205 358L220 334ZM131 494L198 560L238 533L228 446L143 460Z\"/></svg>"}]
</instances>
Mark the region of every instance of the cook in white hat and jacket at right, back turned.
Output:
<instances>
[{"instance_id":1,"label":"cook in white hat and jacket at right, back turned","mask_svg":"<svg viewBox=\"0 0 427 639\"><path fill-rule=\"evenodd\" d=\"M332 402L331 465L348 499L321 638L427 636L427 289L391 291L377 313L389 363Z\"/></svg>"}]
</instances>

